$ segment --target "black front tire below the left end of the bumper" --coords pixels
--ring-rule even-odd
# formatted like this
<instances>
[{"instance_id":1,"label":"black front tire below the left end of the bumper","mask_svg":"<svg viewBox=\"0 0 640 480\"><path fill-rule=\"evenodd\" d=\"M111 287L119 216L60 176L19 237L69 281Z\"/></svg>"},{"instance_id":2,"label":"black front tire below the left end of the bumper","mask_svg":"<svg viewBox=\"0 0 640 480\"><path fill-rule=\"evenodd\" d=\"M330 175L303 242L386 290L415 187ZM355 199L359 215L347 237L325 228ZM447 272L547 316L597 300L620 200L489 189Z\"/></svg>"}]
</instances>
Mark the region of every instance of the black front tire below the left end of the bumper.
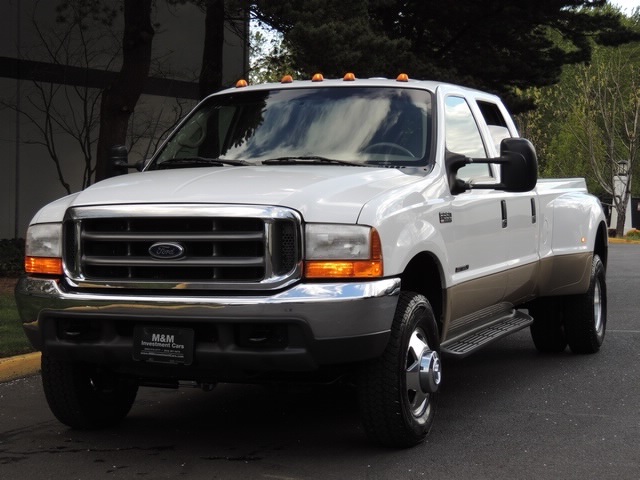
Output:
<instances>
[{"instance_id":1,"label":"black front tire below the left end of the bumper","mask_svg":"<svg viewBox=\"0 0 640 480\"><path fill-rule=\"evenodd\" d=\"M42 386L55 417L65 425L90 430L114 425L127 416L138 385L95 365L42 354Z\"/></svg>"}]
</instances>

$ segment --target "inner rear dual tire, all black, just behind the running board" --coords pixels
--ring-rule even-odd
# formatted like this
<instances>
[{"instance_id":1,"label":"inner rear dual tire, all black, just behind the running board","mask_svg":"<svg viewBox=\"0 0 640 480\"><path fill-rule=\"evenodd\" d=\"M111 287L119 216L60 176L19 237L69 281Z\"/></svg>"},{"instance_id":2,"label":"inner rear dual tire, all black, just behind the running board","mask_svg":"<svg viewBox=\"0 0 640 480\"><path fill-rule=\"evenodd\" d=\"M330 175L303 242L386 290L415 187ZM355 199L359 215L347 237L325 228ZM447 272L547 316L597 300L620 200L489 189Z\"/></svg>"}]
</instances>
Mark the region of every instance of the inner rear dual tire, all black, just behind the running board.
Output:
<instances>
[{"instance_id":1,"label":"inner rear dual tire, all black, just behind the running board","mask_svg":"<svg viewBox=\"0 0 640 480\"><path fill-rule=\"evenodd\" d=\"M567 348L564 329L563 298L543 297L529 306L533 317L531 338L539 352L560 353Z\"/></svg>"}]
</instances>

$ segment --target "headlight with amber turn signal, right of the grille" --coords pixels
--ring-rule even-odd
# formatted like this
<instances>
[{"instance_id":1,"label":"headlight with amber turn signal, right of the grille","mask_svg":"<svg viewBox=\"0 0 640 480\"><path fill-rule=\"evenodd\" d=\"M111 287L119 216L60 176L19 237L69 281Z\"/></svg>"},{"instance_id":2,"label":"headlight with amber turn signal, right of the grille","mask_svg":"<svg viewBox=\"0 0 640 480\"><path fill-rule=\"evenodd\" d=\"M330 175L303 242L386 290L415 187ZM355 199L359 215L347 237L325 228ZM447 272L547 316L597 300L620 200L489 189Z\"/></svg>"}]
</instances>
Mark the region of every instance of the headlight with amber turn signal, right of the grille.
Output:
<instances>
[{"instance_id":1,"label":"headlight with amber turn signal, right of the grille","mask_svg":"<svg viewBox=\"0 0 640 480\"><path fill-rule=\"evenodd\" d=\"M380 236L362 225L308 224L304 270L307 278L381 277Z\"/></svg>"}]
</instances>

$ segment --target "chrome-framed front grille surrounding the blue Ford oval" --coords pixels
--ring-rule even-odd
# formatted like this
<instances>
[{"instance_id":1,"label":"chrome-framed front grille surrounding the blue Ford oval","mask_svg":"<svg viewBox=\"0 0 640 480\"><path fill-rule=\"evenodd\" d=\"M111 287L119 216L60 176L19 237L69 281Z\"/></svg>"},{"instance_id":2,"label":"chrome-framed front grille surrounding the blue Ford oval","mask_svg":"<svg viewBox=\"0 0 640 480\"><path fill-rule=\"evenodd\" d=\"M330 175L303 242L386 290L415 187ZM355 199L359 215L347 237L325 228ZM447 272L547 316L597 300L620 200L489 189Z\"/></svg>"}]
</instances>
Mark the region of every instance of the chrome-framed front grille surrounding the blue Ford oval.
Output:
<instances>
[{"instance_id":1,"label":"chrome-framed front grille surrounding the blue Ford oval","mask_svg":"<svg viewBox=\"0 0 640 480\"><path fill-rule=\"evenodd\" d=\"M65 221L65 268L80 286L273 289L299 277L300 223L277 207L77 208ZM155 255L165 245L179 254Z\"/></svg>"}]
</instances>

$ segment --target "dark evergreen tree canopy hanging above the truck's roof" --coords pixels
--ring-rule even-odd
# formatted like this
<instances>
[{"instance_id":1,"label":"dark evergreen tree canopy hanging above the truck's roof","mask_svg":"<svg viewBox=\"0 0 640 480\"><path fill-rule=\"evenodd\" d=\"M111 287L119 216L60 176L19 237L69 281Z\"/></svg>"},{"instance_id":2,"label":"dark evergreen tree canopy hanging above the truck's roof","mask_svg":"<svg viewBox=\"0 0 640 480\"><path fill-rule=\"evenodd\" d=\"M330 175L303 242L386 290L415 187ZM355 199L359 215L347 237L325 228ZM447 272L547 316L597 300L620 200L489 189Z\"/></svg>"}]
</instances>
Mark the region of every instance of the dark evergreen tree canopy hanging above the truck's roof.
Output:
<instances>
[{"instance_id":1,"label":"dark evergreen tree canopy hanging above the truck's roof","mask_svg":"<svg viewBox=\"0 0 640 480\"><path fill-rule=\"evenodd\" d=\"M606 0L263 0L259 18L282 32L296 66L341 77L453 81L501 95L512 111L523 92L559 81L562 67L589 60L592 41L637 35ZM596 8L598 7L598 8Z\"/></svg>"}]
</instances>

